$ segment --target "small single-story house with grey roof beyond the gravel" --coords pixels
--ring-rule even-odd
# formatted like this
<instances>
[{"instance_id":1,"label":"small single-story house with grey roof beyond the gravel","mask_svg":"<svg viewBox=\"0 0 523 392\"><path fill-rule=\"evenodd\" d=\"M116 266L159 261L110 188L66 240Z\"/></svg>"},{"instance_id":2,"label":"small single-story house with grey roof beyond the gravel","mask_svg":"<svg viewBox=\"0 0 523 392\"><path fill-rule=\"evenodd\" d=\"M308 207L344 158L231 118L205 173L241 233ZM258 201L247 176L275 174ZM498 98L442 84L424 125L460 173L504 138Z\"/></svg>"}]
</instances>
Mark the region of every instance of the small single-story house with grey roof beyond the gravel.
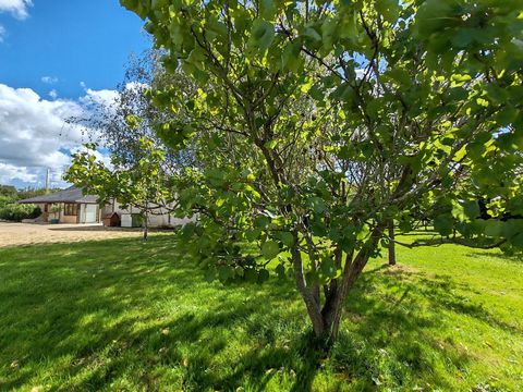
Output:
<instances>
[{"instance_id":1,"label":"small single-story house with grey roof beyond the gravel","mask_svg":"<svg viewBox=\"0 0 523 392\"><path fill-rule=\"evenodd\" d=\"M82 189L71 186L66 189L20 200L34 204L41 209L41 221L60 223L97 223L101 211L97 197L83 195Z\"/></svg>"}]
</instances>

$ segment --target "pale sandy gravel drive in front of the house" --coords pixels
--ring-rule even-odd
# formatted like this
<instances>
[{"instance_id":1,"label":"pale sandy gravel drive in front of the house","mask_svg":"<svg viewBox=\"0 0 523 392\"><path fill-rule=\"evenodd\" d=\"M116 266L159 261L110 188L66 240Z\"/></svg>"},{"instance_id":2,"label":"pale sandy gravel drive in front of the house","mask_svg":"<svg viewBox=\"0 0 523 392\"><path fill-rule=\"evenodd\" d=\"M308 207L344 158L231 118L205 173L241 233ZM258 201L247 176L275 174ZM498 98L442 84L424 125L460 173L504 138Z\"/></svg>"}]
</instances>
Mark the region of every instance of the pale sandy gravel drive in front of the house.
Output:
<instances>
[{"instance_id":1,"label":"pale sandy gravel drive in front of the house","mask_svg":"<svg viewBox=\"0 0 523 392\"><path fill-rule=\"evenodd\" d=\"M0 222L0 247L139 237L139 229L105 228L93 224L35 224Z\"/></svg>"}]
</instances>

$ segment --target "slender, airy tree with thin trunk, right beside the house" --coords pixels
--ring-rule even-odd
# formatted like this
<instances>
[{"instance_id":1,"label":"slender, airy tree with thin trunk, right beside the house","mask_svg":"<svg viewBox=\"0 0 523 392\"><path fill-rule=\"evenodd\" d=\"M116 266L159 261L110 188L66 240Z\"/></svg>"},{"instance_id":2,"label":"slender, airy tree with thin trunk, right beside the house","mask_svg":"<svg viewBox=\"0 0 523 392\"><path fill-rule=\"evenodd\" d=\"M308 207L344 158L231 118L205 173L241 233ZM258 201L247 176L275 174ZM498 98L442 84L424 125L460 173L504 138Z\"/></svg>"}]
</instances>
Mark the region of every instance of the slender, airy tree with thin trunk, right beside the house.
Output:
<instances>
[{"instance_id":1,"label":"slender, airy tree with thin trunk, right beside the house","mask_svg":"<svg viewBox=\"0 0 523 392\"><path fill-rule=\"evenodd\" d=\"M172 209L174 194L168 192L170 177L181 168L195 164L191 148L171 149L158 136L161 124L172 120L172 113L158 110L148 91L177 88L185 97L195 91L185 75L167 74L159 57L157 50L132 57L114 99L92 102L86 117L69 120L84 126L96 143L73 155L64 179L86 193L98 195L101 205L115 199L124 208L137 208L144 240L147 240L149 215ZM178 119L186 117L177 114ZM97 151L108 154L111 163L99 160Z\"/></svg>"}]
</instances>

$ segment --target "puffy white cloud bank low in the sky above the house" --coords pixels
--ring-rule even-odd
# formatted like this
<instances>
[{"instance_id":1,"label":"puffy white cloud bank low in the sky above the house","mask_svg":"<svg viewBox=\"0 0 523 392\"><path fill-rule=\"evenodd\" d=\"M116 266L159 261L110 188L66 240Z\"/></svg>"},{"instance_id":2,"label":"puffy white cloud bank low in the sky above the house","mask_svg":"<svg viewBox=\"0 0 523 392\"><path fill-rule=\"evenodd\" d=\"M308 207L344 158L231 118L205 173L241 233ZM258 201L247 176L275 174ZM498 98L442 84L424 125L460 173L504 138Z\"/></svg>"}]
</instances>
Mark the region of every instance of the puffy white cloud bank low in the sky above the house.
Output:
<instances>
[{"instance_id":1,"label":"puffy white cloud bank low in the sky above the house","mask_svg":"<svg viewBox=\"0 0 523 392\"><path fill-rule=\"evenodd\" d=\"M78 101L47 100L31 88L0 84L0 183L41 181L45 168L59 179L71 162L70 152L96 138L93 131L66 120L88 114L85 102L115 97L115 91L89 89Z\"/></svg>"}]
</instances>

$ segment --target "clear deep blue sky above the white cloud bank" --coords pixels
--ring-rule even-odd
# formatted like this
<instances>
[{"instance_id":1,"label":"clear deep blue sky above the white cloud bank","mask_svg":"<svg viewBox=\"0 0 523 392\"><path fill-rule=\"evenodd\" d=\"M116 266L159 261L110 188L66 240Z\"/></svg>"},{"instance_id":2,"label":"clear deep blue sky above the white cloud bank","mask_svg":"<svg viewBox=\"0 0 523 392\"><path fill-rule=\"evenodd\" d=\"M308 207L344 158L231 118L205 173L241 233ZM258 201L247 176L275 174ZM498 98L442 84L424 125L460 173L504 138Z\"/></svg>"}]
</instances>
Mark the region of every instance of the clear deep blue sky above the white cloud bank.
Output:
<instances>
[{"instance_id":1,"label":"clear deep blue sky above the white cloud bank","mask_svg":"<svg viewBox=\"0 0 523 392\"><path fill-rule=\"evenodd\" d=\"M12 87L44 95L49 86L41 77L50 76L68 98L83 94L81 82L114 88L129 54L149 46L142 20L118 0L34 0L27 12L25 20L0 14L0 82Z\"/></svg>"}]
</instances>

